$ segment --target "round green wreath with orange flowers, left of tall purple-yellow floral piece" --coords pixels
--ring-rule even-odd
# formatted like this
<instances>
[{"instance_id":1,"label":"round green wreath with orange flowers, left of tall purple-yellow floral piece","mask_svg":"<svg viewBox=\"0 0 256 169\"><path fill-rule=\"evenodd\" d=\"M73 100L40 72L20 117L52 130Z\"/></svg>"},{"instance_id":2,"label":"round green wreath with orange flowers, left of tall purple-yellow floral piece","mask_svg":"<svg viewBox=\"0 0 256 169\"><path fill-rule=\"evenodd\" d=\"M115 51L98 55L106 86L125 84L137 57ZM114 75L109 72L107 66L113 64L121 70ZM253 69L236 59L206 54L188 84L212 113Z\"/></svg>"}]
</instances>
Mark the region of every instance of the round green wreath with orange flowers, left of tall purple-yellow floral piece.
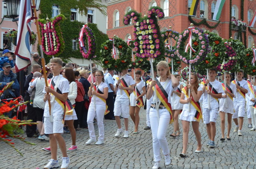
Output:
<instances>
[{"instance_id":1,"label":"round green wreath with orange flowers, left of tall purple-yellow floral piece","mask_svg":"<svg viewBox=\"0 0 256 169\"><path fill-rule=\"evenodd\" d=\"M113 49L113 40L107 40L103 44L101 44L100 54L101 54L101 62L103 68L111 68L116 71L122 71L131 65L131 55L132 49L127 45L127 43L121 38L114 37L114 46L118 49L119 53L116 51L116 55L118 55L118 59L114 59L112 57L112 49Z\"/></svg>"}]
</instances>

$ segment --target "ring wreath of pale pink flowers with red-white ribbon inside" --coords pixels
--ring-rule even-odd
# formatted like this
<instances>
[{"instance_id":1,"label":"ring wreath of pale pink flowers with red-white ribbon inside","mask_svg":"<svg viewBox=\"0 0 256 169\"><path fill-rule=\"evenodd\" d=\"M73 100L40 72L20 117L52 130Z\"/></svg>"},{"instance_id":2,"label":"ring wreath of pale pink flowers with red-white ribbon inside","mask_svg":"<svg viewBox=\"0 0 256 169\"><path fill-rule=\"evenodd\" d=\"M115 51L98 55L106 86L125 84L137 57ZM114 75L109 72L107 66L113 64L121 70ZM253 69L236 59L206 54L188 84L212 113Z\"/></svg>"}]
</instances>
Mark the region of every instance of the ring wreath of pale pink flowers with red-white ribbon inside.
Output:
<instances>
[{"instance_id":1,"label":"ring wreath of pale pink flowers with red-white ribbon inside","mask_svg":"<svg viewBox=\"0 0 256 169\"><path fill-rule=\"evenodd\" d=\"M199 41L198 49L195 53L192 52L191 59L189 58L189 50L188 52L185 52L185 47L187 45L187 40L189 37L189 30L185 29L179 36L179 39L177 40L177 55L178 57L186 64L199 64L200 61L205 59L205 56L208 52L208 46L209 41L207 38L207 35L204 33L202 29L199 28L193 28L192 29L192 36L194 36ZM178 45L178 42L180 42L180 45Z\"/></svg>"}]
</instances>

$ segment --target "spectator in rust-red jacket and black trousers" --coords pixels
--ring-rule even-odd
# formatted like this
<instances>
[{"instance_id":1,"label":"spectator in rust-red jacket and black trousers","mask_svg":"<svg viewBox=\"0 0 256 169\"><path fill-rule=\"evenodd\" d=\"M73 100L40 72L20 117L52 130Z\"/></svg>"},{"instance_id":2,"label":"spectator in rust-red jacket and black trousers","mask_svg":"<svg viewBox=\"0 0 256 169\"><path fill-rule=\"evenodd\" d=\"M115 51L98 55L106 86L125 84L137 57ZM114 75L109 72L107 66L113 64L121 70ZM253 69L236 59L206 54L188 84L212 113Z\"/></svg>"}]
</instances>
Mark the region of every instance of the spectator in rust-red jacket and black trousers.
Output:
<instances>
[{"instance_id":1,"label":"spectator in rust-red jacket and black trousers","mask_svg":"<svg viewBox=\"0 0 256 169\"><path fill-rule=\"evenodd\" d=\"M75 80L76 80L76 85L77 85L77 96L76 96L76 106L75 106L75 110L76 110L76 116L77 116L77 120L74 121L74 127L76 130L80 130L78 128L78 123L80 120L80 118L83 118L83 113L84 111L82 111L83 107L84 107L84 86L81 82L78 81L78 79L80 78L80 73L79 71L74 71L75 74ZM79 123L79 127L82 128L83 123Z\"/></svg>"}]
</instances>

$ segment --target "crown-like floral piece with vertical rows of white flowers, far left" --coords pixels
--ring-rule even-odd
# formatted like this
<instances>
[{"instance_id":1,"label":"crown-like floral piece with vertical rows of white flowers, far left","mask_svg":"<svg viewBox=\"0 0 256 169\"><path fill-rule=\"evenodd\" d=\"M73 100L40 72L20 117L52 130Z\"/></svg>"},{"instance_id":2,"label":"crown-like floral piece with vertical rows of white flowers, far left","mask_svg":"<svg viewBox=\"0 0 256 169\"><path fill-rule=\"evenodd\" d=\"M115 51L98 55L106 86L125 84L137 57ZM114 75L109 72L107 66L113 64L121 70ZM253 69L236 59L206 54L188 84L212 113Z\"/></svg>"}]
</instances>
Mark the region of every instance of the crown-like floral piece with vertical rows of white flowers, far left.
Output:
<instances>
[{"instance_id":1,"label":"crown-like floral piece with vertical rows of white flowers, far left","mask_svg":"<svg viewBox=\"0 0 256 169\"><path fill-rule=\"evenodd\" d=\"M45 19L39 19L42 33L42 49L46 55L58 56L65 48L64 39L60 30L60 22L65 20L64 15L57 15L49 22Z\"/></svg>"}]
</instances>

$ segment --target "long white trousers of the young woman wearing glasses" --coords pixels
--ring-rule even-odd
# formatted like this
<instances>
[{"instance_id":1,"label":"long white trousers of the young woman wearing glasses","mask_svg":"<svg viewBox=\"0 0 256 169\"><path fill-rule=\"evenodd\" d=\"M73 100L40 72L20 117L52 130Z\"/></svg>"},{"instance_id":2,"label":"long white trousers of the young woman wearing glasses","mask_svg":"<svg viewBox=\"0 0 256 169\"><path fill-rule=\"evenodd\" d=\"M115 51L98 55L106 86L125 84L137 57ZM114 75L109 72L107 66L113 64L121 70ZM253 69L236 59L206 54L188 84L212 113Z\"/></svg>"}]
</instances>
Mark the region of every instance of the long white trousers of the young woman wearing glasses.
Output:
<instances>
[{"instance_id":1,"label":"long white trousers of the young woman wearing glasses","mask_svg":"<svg viewBox=\"0 0 256 169\"><path fill-rule=\"evenodd\" d=\"M97 116L97 124L99 128L99 140L104 140L104 124L103 124L103 118L104 113L106 111L105 105L97 105L96 106L96 112L94 112L94 105L90 104L87 114L87 124L88 124L88 130L90 138L93 140L96 140L95 132L94 132L94 126L93 126L93 119L95 115Z\"/></svg>"}]
</instances>

